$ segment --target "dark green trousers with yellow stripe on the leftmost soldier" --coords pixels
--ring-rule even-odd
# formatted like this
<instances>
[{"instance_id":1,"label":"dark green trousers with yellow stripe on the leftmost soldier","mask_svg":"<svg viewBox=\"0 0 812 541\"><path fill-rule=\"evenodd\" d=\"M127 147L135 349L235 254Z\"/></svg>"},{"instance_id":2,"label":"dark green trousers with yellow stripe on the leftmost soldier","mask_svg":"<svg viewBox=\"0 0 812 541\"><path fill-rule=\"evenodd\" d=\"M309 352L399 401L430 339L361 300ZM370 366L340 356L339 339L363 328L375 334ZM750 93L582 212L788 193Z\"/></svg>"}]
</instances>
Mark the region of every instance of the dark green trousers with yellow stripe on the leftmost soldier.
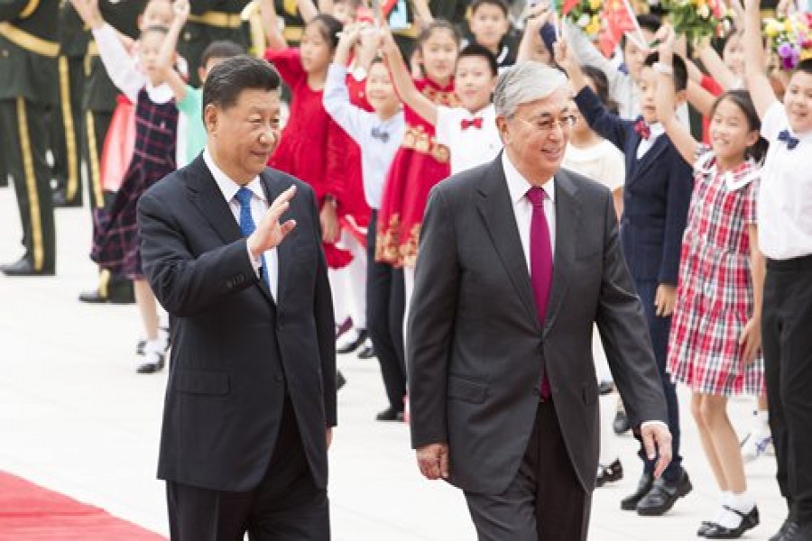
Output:
<instances>
[{"instance_id":1,"label":"dark green trousers with yellow stripe on the leftmost soldier","mask_svg":"<svg viewBox=\"0 0 812 541\"><path fill-rule=\"evenodd\" d=\"M48 109L23 97L0 100L0 142L23 223L25 256L35 271L53 272L56 232L53 221L51 170L45 160Z\"/></svg>"}]
</instances>

